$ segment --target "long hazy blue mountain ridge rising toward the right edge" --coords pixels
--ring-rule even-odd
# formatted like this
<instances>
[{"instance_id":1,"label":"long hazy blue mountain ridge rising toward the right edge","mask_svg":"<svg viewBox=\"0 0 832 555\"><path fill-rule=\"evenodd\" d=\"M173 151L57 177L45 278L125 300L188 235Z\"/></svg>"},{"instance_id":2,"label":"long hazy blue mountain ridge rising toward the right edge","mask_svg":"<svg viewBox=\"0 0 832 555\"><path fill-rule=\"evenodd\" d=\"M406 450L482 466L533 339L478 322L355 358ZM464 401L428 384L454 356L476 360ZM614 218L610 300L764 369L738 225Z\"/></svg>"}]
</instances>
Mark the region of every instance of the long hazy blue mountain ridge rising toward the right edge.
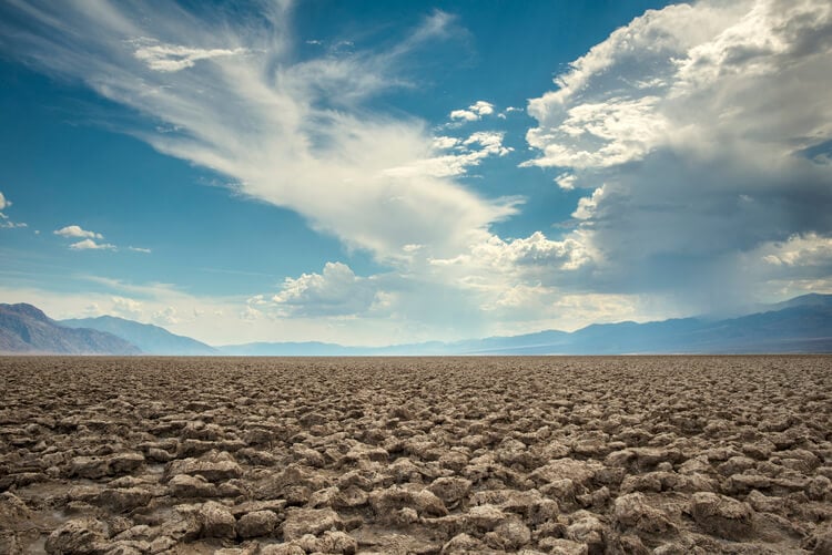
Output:
<instances>
[{"instance_id":1,"label":"long hazy blue mountain ridge rising toward the right edge","mask_svg":"<svg viewBox=\"0 0 832 555\"><path fill-rule=\"evenodd\" d=\"M832 295L810 294L735 318L679 318L593 323L572 332L389 347L336 343L248 343L220 347L232 356L635 354L832 352Z\"/></svg>"}]
</instances>

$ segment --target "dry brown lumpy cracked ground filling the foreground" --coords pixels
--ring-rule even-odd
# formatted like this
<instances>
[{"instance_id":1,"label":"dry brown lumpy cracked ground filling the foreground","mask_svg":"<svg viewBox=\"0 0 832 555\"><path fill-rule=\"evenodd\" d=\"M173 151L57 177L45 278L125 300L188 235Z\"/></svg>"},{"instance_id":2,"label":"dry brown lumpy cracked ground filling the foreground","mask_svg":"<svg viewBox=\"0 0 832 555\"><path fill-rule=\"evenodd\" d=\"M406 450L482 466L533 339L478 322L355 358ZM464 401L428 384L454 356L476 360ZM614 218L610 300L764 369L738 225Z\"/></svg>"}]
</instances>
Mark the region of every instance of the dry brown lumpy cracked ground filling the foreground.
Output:
<instances>
[{"instance_id":1,"label":"dry brown lumpy cracked ground filling the foreground","mask_svg":"<svg viewBox=\"0 0 832 555\"><path fill-rule=\"evenodd\" d=\"M2 553L832 553L832 358L0 359Z\"/></svg>"}]
</instances>

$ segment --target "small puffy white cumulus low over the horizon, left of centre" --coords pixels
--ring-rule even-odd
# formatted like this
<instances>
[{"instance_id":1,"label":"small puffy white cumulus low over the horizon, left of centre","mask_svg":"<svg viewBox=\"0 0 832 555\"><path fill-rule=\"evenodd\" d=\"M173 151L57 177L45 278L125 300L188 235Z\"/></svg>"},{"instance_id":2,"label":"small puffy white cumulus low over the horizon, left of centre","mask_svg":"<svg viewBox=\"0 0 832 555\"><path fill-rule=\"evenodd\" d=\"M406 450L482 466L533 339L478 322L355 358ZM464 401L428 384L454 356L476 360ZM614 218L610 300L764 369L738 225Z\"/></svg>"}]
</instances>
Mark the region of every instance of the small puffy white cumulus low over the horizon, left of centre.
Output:
<instances>
[{"instance_id":1,"label":"small puffy white cumulus low over the horizon, left of centre","mask_svg":"<svg viewBox=\"0 0 832 555\"><path fill-rule=\"evenodd\" d=\"M345 264L326 263L321 274L286 278L271 301L283 317L322 317L366 312L375 298L372 280L356 276Z\"/></svg>"}]
</instances>

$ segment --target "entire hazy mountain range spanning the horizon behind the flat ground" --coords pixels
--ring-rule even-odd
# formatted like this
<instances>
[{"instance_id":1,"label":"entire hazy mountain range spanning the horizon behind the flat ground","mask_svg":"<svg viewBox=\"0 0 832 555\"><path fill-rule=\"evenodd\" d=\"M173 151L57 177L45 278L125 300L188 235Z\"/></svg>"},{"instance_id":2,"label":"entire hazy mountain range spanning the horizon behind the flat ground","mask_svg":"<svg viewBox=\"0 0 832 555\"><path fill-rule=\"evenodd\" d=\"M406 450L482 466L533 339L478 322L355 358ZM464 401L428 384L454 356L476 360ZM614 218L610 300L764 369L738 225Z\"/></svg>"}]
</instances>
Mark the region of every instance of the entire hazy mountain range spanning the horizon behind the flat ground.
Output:
<instances>
[{"instance_id":1,"label":"entire hazy mountain range spanning the horizon behind the flat ground","mask_svg":"<svg viewBox=\"0 0 832 555\"><path fill-rule=\"evenodd\" d=\"M317 341L211 347L123 318L55 321L31 305L0 305L0 352L284 357L832 352L832 295L804 295L734 318L625 321L572 332L546 330L388 347Z\"/></svg>"}]
</instances>

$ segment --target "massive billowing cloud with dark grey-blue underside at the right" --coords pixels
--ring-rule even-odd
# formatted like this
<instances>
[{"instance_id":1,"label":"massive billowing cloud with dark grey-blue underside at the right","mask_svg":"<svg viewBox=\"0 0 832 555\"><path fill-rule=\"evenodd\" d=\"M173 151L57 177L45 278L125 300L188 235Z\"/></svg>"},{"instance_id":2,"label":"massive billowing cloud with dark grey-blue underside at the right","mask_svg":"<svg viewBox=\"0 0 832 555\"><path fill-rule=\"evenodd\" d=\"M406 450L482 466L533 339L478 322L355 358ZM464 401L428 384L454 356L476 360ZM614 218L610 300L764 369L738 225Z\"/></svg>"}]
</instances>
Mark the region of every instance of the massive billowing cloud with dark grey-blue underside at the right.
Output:
<instances>
[{"instance_id":1,"label":"massive billowing cloud with dark grey-blue underside at the right","mask_svg":"<svg viewBox=\"0 0 832 555\"><path fill-rule=\"evenodd\" d=\"M596 290L688 298L696 310L738 302L771 292L773 274L749 266L751 253L777 266L800 249L770 245L832 235L829 2L651 10L556 84L529 101L539 155L525 165L592 191L565 240L600 257Z\"/></svg>"}]
</instances>

